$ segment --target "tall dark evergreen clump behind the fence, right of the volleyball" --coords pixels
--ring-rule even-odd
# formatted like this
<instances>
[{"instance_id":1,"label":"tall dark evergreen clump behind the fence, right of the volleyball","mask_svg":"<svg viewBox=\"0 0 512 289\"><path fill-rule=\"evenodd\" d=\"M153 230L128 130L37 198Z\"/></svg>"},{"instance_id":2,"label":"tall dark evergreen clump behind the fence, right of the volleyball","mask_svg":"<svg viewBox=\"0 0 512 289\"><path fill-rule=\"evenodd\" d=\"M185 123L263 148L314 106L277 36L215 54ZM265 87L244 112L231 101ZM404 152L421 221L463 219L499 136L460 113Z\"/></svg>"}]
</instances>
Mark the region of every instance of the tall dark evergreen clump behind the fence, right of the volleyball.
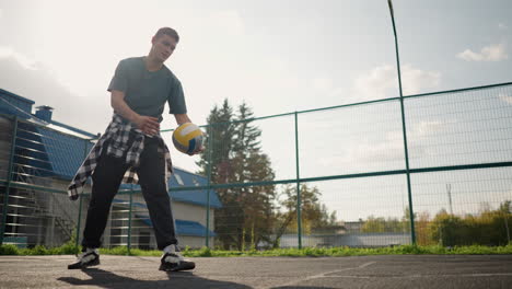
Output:
<instances>
[{"instance_id":1,"label":"tall dark evergreen clump behind the fence, right of the volleyball","mask_svg":"<svg viewBox=\"0 0 512 289\"><path fill-rule=\"evenodd\" d=\"M221 108L214 106L208 117L211 137L209 152L201 155L198 165L202 173L211 164L211 182L233 184L274 181L270 159L261 152L261 131L252 124L253 112L243 103L236 115L224 100ZM245 248L268 240L274 220L274 186L230 187L218 189L222 208L216 211L216 232L224 248Z\"/></svg>"}]
</instances>

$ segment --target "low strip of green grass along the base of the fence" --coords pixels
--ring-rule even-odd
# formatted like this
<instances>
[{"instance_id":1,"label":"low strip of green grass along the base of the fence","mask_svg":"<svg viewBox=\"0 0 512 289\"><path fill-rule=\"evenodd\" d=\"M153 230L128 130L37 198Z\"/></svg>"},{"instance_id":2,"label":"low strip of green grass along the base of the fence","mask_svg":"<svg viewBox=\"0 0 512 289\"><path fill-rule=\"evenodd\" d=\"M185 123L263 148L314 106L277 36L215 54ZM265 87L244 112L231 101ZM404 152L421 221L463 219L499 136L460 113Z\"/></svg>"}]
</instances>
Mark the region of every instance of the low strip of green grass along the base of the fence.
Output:
<instances>
[{"instance_id":1,"label":"low strip of green grass along the base of the fence","mask_svg":"<svg viewBox=\"0 0 512 289\"><path fill-rule=\"evenodd\" d=\"M19 248L14 245L0 245L0 255L70 255L77 254L80 248L67 243L59 247L47 248L35 246L33 248ZM128 247L101 248L101 254L128 255ZM392 247L357 248L357 247L305 247L305 248L276 248L267 251L222 251L203 247L200 250L185 248L182 252L187 257L238 257L238 256L290 256L290 257L321 257L321 256L369 256L369 255L490 255L512 254L512 244L505 246L454 246L438 245L400 245ZM161 251L130 250L132 256L161 256Z\"/></svg>"}]
</instances>

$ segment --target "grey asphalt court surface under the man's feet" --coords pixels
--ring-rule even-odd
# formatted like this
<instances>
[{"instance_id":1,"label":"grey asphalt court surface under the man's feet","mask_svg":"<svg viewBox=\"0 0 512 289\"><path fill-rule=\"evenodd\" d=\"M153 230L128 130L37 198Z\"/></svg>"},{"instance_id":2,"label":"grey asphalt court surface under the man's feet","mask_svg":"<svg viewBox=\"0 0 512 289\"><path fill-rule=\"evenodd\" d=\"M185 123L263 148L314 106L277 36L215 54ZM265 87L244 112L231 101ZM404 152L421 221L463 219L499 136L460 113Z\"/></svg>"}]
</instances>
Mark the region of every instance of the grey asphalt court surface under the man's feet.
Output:
<instances>
[{"instance_id":1,"label":"grey asphalt court surface under the man's feet","mask_svg":"<svg viewBox=\"0 0 512 289\"><path fill-rule=\"evenodd\" d=\"M0 256L0 288L511 288L512 255L191 258L196 269L159 271L159 257Z\"/></svg>"}]
</instances>

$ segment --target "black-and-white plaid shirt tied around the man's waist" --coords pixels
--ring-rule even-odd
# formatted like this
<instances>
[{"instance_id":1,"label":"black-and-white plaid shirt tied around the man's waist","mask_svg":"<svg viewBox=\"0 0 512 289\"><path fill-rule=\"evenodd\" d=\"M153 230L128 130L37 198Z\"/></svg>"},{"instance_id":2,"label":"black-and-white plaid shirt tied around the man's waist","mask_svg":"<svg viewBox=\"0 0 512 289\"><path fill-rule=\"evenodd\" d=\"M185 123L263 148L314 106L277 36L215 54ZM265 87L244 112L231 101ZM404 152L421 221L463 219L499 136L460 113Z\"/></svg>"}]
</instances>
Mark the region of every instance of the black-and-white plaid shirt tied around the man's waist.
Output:
<instances>
[{"instance_id":1,"label":"black-and-white plaid shirt tied around the man's waist","mask_svg":"<svg viewBox=\"0 0 512 289\"><path fill-rule=\"evenodd\" d=\"M129 146L130 131L135 134L133 141ZM126 152L126 163L129 165L128 170L123 177L125 184L138 184L137 166L139 165L140 154L144 150L146 135L130 122L124 120L119 115L114 114L114 117L108 125L105 134L97 140L96 144L91 149L82 165L77 171L73 180L68 186L69 198L75 200L83 192L83 187L88 178L93 174L96 169L97 162L102 151L106 149L108 155L123 158ZM165 158L165 180L171 177L173 173L173 165L171 162L171 153L167 146L160 135L153 136L159 139L159 150L164 153ZM105 143L108 140L107 143ZM105 148L106 144L106 148Z\"/></svg>"}]
</instances>

